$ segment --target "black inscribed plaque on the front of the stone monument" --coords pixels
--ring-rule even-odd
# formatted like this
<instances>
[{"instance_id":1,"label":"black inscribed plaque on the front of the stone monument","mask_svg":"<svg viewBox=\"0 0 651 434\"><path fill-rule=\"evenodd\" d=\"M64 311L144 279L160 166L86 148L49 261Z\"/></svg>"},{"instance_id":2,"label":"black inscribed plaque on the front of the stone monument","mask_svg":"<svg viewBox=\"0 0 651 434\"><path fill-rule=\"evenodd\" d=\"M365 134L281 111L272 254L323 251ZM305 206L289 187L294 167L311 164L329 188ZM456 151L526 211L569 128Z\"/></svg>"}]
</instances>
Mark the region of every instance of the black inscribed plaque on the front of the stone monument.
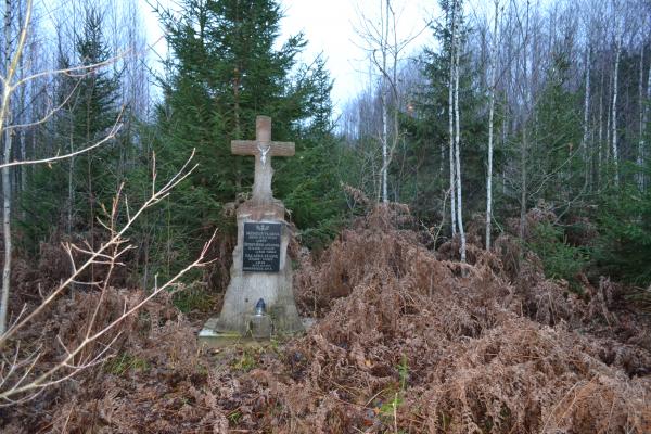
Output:
<instances>
[{"instance_id":1,"label":"black inscribed plaque on the front of the stone monument","mask_svg":"<svg viewBox=\"0 0 651 434\"><path fill-rule=\"evenodd\" d=\"M244 222L243 271L278 272L281 224Z\"/></svg>"}]
</instances>

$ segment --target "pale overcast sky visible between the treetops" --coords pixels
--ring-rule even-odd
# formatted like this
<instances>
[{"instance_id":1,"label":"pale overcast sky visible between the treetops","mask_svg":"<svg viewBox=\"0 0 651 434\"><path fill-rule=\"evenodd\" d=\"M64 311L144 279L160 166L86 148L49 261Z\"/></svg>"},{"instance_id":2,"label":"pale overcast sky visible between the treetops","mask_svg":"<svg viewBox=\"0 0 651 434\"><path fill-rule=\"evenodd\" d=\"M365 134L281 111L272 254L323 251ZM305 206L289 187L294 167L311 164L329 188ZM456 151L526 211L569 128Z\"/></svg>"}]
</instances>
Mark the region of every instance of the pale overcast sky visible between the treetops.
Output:
<instances>
[{"instance_id":1,"label":"pale overcast sky visible between the treetops","mask_svg":"<svg viewBox=\"0 0 651 434\"><path fill-rule=\"evenodd\" d=\"M376 16L380 2L384 0L281 0L285 17L281 21L281 42L288 36L299 31L305 34L308 41L302 61L309 63L316 55L323 52L328 69L334 79L332 100L336 107L342 105L369 82L369 61L361 38L356 34L359 13ZM161 3L175 9L174 0L161 0ZM397 0L396 11L399 14L397 23L399 38L407 38L419 33L429 17L437 13L433 0ZM158 25L156 14L142 0L142 13L148 27L150 43L155 50L165 54L165 43L161 40L163 30ZM431 41L431 31L426 29L418 36L407 53Z\"/></svg>"}]
</instances>

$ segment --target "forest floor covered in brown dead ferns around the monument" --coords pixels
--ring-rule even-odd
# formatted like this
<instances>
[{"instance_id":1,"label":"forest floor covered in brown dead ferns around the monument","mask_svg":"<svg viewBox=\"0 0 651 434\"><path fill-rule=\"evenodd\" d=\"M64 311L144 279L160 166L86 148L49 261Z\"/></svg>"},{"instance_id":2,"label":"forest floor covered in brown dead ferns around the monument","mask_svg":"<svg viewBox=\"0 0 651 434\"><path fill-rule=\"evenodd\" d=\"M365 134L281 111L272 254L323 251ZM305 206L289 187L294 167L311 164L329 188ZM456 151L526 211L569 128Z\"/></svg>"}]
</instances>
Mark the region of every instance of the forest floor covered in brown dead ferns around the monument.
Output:
<instances>
[{"instance_id":1,"label":"forest floor covered in brown dead ferns around the monument","mask_svg":"<svg viewBox=\"0 0 651 434\"><path fill-rule=\"evenodd\" d=\"M202 318L158 299L101 367L0 410L2 432L651 432L651 318L626 289L577 295L506 235L490 253L470 237L462 265L408 218L376 209L319 258L295 250L304 336L200 348ZM74 340L97 296L61 299L31 337ZM142 296L112 291L103 320Z\"/></svg>"}]
</instances>

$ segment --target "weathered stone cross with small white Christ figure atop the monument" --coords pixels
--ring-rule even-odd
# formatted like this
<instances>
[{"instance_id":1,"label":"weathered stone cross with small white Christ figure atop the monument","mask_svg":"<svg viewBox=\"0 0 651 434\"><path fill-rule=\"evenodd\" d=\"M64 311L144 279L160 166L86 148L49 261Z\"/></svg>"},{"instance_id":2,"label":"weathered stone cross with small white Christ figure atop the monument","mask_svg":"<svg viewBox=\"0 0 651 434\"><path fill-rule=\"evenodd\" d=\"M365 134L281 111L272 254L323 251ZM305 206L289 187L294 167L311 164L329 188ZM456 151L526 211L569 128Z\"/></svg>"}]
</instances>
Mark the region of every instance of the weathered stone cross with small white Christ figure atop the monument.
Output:
<instances>
[{"instance_id":1,"label":"weathered stone cross with small white Christ figure atop the monument","mask_svg":"<svg viewBox=\"0 0 651 434\"><path fill-rule=\"evenodd\" d=\"M294 155L294 142L271 141L271 118L257 116L255 118L255 140L231 141L231 153L235 155L255 156L255 175L253 178L253 200L267 202L273 199L271 192L272 156Z\"/></svg>"}]
</instances>

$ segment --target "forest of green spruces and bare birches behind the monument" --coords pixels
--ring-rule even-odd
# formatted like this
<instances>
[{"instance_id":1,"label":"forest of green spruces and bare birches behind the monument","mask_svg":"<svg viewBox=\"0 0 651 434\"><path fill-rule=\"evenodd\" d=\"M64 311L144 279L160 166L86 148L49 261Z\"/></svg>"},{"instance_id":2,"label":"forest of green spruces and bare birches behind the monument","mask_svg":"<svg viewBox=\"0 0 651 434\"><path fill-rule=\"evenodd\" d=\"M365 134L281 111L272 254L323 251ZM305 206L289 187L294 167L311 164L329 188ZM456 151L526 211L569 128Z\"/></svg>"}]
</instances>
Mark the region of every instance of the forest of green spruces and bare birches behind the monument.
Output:
<instances>
[{"instance_id":1,"label":"forest of green spruces and bare birches behind the monument","mask_svg":"<svg viewBox=\"0 0 651 434\"><path fill-rule=\"evenodd\" d=\"M7 77L28 1L4 3ZM199 166L132 226L138 248L113 284L175 276L217 229L218 260L187 275L194 284L176 299L209 309L229 278L233 206L253 182L253 163L231 155L230 141L253 138L265 114L275 140L296 142L296 157L275 162L275 194L315 252L369 204L397 202L430 247L458 237L460 260L469 228L482 247L511 232L576 291L582 273L651 283L648 1L501 0L477 11L442 0L423 29L436 44L420 53L396 37L408 23L395 2L379 1L358 28L374 75L336 119L327 59L299 62L303 35L279 41L281 4L179 4L180 14L152 5L168 46L163 67L152 67L135 0L34 5L7 101L4 162L103 143L2 169L5 258L36 264L65 241L98 248L98 218L120 186L132 206L144 203L154 155L167 179L195 150ZM532 209L544 216L535 227ZM116 220L128 218L120 208Z\"/></svg>"}]
</instances>

